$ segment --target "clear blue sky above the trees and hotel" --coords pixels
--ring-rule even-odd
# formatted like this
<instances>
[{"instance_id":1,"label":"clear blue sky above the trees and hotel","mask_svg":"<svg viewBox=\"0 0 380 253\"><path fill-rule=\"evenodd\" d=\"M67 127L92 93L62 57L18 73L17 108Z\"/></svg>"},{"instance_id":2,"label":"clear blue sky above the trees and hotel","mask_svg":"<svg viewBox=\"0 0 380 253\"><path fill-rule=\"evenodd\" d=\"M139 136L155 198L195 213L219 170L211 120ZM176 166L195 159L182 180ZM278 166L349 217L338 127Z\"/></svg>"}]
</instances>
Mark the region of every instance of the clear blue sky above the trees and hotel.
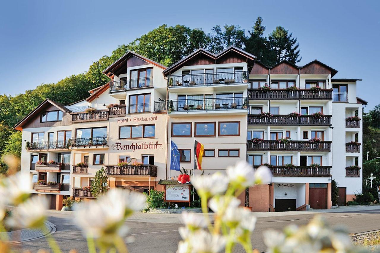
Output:
<instances>
[{"instance_id":1,"label":"clear blue sky above the trees and hotel","mask_svg":"<svg viewBox=\"0 0 380 253\"><path fill-rule=\"evenodd\" d=\"M0 93L15 95L88 70L158 25L202 28L241 25L263 17L266 35L277 25L293 32L304 65L314 59L336 78L358 78L367 108L379 104L380 1L109 1L2 2Z\"/></svg>"}]
</instances>

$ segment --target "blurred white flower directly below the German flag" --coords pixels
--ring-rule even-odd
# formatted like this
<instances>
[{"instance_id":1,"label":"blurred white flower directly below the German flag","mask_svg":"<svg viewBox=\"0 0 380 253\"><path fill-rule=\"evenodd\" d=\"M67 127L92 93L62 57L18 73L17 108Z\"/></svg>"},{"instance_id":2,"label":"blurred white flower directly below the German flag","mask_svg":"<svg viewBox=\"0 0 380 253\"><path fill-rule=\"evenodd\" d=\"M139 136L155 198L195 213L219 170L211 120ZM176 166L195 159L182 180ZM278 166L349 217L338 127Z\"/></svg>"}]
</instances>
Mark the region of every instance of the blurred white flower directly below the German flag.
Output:
<instances>
[{"instance_id":1,"label":"blurred white flower directly below the German flag","mask_svg":"<svg viewBox=\"0 0 380 253\"><path fill-rule=\"evenodd\" d=\"M193 176L190 181L199 196L223 194L228 187L227 177L220 172L215 172L211 176Z\"/></svg>"}]
</instances>

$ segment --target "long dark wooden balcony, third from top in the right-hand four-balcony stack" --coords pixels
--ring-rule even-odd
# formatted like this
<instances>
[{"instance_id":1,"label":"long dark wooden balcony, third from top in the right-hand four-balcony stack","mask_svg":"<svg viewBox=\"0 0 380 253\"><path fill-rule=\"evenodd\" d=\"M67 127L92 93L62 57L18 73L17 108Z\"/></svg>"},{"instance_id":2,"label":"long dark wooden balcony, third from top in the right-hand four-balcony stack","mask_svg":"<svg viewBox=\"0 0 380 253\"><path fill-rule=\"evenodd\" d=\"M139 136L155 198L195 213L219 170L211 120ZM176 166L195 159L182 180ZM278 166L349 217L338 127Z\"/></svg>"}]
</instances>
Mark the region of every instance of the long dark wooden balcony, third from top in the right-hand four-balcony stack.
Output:
<instances>
[{"instance_id":1,"label":"long dark wooden balcony, third from top in the right-hand four-balcony stack","mask_svg":"<svg viewBox=\"0 0 380 253\"><path fill-rule=\"evenodd\" d=\"M330 151L331 141L289 141L288 143L279 143L278 141L247 141L247 150L263 151Z\"/></svg>"}]
</instances>

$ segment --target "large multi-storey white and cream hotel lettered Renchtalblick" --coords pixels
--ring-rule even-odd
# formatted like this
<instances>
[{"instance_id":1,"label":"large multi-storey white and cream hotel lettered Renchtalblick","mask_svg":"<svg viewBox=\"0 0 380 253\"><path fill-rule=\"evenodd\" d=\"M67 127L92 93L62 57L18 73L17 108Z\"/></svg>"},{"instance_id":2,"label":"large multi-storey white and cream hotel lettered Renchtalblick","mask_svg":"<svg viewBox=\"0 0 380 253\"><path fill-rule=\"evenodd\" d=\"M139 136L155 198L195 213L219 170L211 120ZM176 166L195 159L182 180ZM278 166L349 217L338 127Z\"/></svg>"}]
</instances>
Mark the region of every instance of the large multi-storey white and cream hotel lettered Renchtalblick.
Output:
<instances>
[{"instance_id":1,"label":"large multi-storey white and cream hotel lettered Renchtalblick","mask_svg":"<svg viewBox=\"0 0 380 253\"><path fill-rule=\"evenodd\" d=\"M93 198L86 186L102 167L110 187L163 190L158 181L179 174L169 170L170 141L188 171L195 140L204 145L205 174L239 160L267 164L273 182L239 196L255 212L329 209L332 179L339 204L361 191L366 102L356 97L358 79L333 79L337 71L317 60L269 67L231 46L198 49L166 68L127 52L103 73L111 81L86 100L47 99L15 126L23 133L21 171L52 209L65 195Z\"/></svg>"}]
</instances>

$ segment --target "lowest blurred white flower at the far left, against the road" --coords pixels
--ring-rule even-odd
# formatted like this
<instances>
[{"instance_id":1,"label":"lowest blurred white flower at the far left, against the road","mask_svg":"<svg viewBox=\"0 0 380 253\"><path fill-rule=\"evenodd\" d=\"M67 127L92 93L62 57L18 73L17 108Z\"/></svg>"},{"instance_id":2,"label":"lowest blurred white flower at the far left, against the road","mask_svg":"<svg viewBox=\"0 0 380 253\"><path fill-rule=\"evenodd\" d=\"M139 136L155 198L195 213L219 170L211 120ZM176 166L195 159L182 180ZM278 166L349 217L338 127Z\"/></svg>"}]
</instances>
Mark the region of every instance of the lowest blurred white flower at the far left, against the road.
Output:
<instances>
[{"instance_id":1,"label":"lowest blurred white flower at the far left, against the road","mask_svg":"<svg viewBox=\"0 0 380 253\"><path fill-rule=\"evenodd\" d=\"M41 228L46 219L47 204L44 196L33 196L17 206L6 222L13 228Z\"/></svg>"}]
</instances>

